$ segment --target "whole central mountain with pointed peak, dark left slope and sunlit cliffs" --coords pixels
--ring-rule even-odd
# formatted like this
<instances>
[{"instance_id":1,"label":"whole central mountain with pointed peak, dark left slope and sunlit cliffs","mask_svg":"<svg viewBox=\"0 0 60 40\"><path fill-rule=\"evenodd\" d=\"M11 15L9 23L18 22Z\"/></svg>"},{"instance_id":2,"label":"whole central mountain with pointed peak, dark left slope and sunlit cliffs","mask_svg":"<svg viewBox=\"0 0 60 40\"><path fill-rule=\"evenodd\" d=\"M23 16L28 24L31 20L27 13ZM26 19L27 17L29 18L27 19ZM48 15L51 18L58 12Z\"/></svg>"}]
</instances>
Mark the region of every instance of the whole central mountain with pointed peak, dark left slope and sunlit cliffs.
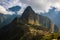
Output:
<instances>
[{"instance_id":1,"label":"whole central mountain with pointed peak, dark left slope and sunlit cliffs","mask_svg":"<svg viewBox=\"0 0 60 40\"><path fill-rule=\"evenodd\" d=\"M28 6L20 18L16 17L11 23L0 28L0 40L34 40L37 35L54 32L58 32L58 27L49 18L36 14Z\"/></svg>"}]
</instances>

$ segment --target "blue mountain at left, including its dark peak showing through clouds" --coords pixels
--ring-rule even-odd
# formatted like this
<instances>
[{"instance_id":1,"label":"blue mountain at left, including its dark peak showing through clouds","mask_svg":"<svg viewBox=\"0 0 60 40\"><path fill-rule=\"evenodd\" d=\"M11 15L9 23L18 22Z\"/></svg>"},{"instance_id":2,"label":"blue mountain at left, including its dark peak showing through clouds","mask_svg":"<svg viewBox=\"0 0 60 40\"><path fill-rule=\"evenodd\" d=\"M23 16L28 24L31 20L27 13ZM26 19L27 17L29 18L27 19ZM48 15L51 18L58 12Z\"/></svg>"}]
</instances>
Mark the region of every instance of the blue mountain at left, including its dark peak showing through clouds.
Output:
<instances>
[{"instance_id":1,"label":"blue mountain at left, including its dark peak showing through clouds","mask_svg":"<svg viewBox=\"0 0 60 40\"><path fill-rule=\"evenodd\" d=\"M0 13L0 28L3 27L4 25L9 24L15 17L20 17L20 15L17 15L17 12L20 9L21 9L20 6L13 6L7 9L7 11L15 12L15 14L13 15Z\"/></svg>"}]
</instances>

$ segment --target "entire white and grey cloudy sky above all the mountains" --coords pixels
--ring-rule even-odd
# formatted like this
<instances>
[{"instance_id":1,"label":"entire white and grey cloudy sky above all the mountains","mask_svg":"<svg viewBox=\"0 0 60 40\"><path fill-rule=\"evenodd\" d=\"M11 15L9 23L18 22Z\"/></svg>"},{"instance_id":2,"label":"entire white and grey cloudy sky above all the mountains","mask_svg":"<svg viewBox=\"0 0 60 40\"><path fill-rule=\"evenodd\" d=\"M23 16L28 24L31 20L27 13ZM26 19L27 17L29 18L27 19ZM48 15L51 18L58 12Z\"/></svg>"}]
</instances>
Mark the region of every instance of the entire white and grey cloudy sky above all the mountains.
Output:
<instances>
[{"instance_id":1,"label":"entire white and grey cloudy sky above all the mountains","mask_svg":"<svg viewBox=\"0 0 60 40\"><path fill-rule=\"evenodd\" d=\"M21 6L22 13L27 6L31 6L37 13L49 12L49 9L55 7L57 11L60 11L60 0L0 0L0 12L8 14L7 9L13 6ZM11 12L9 12L11 14Z\"/></svg>"}]
</instances>

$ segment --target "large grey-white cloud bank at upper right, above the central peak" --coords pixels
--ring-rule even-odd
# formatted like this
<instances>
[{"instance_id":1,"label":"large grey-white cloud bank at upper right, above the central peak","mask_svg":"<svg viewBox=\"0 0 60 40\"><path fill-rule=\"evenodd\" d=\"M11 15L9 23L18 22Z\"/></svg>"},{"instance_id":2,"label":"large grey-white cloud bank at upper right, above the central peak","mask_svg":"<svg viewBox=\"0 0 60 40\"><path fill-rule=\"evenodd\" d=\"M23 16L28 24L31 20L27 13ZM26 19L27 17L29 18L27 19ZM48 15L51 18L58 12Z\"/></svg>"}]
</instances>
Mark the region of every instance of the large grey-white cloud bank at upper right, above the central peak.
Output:
<instances>
[{"instance_id":1,"label":"large grey-white cloud bank at upper right, above the central peak","mask_svg":"<svg viewBox=\"0 0 60 40\"><path fill-rule=\"evenodd\" d=\"M60 0L20 0L22 3L32 6L35 10L48 12L51 7L60 10Z\"/></svg>"}]
</instances>

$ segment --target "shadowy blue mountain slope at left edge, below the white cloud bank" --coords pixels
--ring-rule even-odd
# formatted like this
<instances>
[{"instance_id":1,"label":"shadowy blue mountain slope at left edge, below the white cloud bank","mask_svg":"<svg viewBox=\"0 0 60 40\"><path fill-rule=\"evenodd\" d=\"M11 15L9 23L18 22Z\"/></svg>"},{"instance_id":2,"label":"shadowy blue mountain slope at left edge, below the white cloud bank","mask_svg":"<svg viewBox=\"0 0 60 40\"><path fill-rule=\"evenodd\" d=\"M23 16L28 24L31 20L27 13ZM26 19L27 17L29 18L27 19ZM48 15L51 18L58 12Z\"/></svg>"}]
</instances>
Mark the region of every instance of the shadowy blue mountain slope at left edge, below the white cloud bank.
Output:
<instances>
[{"instance_id":1,"label":"shadowy blue mountain slope at left edge, below the white cloud bank","mask_svg":"<svg viewBox=\"0 0 60 40\"><path fill-rule=\"evenodd\" d=\"M9 24L15 17L16 17L15 14L5 15L5 14L0 13L0 28L3 27L4 25Z\"/></svg>"}]
</instances>

